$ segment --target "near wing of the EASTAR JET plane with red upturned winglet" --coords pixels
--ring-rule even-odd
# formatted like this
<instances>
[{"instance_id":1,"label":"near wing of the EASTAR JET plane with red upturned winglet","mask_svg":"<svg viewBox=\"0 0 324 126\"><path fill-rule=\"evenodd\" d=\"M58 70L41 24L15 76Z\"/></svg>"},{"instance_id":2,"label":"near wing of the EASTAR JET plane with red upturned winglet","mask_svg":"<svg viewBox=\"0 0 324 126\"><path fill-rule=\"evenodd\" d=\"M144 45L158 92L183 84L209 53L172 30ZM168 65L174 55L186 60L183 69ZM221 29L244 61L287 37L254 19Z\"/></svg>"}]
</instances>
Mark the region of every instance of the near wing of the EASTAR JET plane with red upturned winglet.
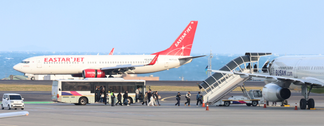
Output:
<instances>
[{"instance_id":1,"label":"near wing of the EASTAR JET plane with red upturned winglet","mask_svg":"<svg viewBox=\"0 0 324 126\"><path fill-rule=\"evenodd\" d=\"M101 70L108 70L108 69L123 69L121 72L125 73L126 71L130 71L135 73L134 71L132 71L133 69L135 69L135 67L142 67L142 66L147 66L147 65L154 65L157 58L158 58L158 54L156 54L156 56L153 58L153 60L149 63L149 64L141 64L141 65L132 65L132 64L125 64L125 65L117 65L117 66L113 66L113 67L103 67L101 68Z\"/></svg>"}]
</instances>

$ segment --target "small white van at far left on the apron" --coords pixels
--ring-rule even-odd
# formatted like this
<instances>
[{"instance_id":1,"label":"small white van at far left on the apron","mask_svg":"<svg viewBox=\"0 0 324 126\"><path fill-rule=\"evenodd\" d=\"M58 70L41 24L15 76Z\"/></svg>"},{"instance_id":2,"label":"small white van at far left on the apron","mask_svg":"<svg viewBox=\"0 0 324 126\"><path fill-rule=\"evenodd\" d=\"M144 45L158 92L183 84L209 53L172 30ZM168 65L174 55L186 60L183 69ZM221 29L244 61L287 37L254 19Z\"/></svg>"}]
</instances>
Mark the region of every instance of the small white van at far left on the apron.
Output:
<instances>
[{"instance_id":1,"label":"small white van at far left on the apron","mask_svg":"<svg viewBox=\"0 0 324 126\"><path fill-rule=\"evenodd\" d=\"M14 108L21 108L24 110L24 99L19 94L4 94L2 97L1 109L7 108L8 110Z\"/></svg>"}]
</instances>

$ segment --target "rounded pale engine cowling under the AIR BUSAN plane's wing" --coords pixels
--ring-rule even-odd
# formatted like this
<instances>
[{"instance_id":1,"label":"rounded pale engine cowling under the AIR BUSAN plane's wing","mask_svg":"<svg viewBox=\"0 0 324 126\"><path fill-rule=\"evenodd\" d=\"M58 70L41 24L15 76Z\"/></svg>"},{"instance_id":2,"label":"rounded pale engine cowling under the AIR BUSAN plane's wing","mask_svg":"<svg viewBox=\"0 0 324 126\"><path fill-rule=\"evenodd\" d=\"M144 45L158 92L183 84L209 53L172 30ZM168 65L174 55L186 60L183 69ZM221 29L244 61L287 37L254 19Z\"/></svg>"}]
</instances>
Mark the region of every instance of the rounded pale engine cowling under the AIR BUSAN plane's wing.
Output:
<instances>
[{"instance_id":1,"label":"rounded pale engine cowling under the AIR BUSAN plane's wing","mask_svg":"<svg viewBox=\"0 0 324 126\"><path fill-rule=\"evenodd\" d=\"M282 88L274 83L265 85L262 89L263 98L266 101L280 102L289 99L291 92L287 88Z\"/></svg>"}]
</instances>

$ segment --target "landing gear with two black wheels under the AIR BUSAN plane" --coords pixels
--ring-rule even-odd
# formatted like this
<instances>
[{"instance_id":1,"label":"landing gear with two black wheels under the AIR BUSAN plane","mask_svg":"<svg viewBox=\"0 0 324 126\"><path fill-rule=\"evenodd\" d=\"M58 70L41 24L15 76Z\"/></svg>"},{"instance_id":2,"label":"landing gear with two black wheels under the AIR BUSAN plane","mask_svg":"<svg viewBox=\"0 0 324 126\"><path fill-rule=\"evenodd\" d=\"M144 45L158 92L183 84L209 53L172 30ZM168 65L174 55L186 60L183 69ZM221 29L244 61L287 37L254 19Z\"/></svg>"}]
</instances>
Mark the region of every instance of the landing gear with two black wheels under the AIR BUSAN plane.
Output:
<instances>
[{"instance_id":1,"label":"landing gear with two black wheels under the AIR BUSAN plane","mask_svg":"<svg viewBox=\"0 0 324 126\"><path fill-rule=\"evenodd\" d=\"M308 99L309 93L312 90L313 86L310 86L310 88L307 87L307 85L302 86L302 95L305 97L305 99L301 99L299 102L300 109L306 109L306 106L308 106L308 109L315 108L315 102L314 99ZM307 91L307 89L309 91Z\"/></svg>"}]
</instances>

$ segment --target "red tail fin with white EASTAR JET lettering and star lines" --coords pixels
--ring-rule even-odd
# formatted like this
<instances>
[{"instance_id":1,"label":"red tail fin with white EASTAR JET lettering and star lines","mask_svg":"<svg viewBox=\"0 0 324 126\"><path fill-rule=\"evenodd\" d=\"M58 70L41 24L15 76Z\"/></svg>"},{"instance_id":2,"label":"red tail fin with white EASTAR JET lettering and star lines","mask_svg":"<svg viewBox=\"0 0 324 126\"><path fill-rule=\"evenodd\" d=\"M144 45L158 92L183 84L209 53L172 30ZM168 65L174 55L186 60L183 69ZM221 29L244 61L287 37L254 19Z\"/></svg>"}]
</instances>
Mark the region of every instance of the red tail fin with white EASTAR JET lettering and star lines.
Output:
<instances>
[{"instance_id":1,"label":"red tail fin with white EASTAR JET lettering and star lines","mask_svg":"<svg viewBox=\"0 0 324 126\"><path fill-rule=\"evenodd\" d=\"M198 21L190 21L188 26L182 31L170 48L157 53L160 55L190 56L197 24ZM151 55L156 55L157 53Z\"/></svg>"}]
</instances>

